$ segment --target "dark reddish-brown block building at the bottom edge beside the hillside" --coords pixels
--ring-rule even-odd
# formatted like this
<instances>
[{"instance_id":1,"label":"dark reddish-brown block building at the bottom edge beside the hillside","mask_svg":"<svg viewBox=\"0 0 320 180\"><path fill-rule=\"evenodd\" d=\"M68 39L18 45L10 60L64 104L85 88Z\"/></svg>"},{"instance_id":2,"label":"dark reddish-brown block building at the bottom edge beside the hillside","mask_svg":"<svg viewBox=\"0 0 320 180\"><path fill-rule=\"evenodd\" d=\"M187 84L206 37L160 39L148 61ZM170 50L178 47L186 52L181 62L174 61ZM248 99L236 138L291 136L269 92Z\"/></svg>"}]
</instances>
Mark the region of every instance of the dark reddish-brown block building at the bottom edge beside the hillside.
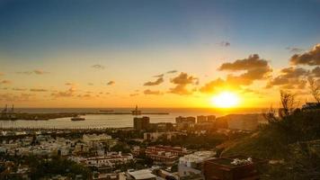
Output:
<instances>
[{"instance_id":1,"label":"dark reddish-brown block building at the bottom edge beside the hillside","mask_svg":"<svg viewBox=\"0 0 320 180\"><path fill-rule=\"evenodd\" d=\"M262 159L244 156L209 159L204 162L203 175L206 180L256 180L260 178L255 166L265 162Z\"/></svg>"}]
</instances>

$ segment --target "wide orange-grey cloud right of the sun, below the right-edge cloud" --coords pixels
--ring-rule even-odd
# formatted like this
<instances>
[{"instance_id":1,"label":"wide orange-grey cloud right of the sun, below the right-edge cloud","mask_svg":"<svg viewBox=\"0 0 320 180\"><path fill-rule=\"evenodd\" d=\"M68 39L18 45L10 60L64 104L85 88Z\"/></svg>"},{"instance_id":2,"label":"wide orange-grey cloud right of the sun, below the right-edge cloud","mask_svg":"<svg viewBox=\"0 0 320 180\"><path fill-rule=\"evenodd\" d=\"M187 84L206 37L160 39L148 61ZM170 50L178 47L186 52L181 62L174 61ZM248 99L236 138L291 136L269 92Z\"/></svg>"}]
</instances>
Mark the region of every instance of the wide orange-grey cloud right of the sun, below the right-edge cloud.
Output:
<instances>
[{"instance_id":1,"label":"wide orange-grey cloud right of the sun, below the right-edge cloud","mask_svg":"<svg viewBox=\"0 0 320 180\"><path fill-rule=\"evenodd\" d=\"M271 88L276 85L285 89L305 88L308 75L309 71L302 67L286 67L281 69L280 75L271 79L266 87Z\"/></svg>"}]
</instances>

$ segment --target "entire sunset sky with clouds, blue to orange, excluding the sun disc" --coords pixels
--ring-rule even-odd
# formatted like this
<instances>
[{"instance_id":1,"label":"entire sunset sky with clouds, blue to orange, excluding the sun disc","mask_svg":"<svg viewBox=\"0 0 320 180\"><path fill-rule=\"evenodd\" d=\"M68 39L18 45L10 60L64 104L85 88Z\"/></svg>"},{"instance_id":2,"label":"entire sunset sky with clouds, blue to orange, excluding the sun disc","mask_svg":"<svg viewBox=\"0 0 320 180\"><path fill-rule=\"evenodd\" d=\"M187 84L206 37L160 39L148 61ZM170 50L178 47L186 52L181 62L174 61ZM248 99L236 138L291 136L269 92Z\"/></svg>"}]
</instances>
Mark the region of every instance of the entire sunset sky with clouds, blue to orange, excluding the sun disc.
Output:
<instances>
[{"instance_id":1,"label":"entire sunset sky with clouds, blue to orange, excluding the sun disc","mask_svg":"<svg viewBox=\"0 0 320 180\"><path fill-rule=\"evenodd\" d=\"M0 105L239 107L313 101L320 1L1 0ZM318 80L319 82L319 80Z\"/></svg>"}]
</instances>

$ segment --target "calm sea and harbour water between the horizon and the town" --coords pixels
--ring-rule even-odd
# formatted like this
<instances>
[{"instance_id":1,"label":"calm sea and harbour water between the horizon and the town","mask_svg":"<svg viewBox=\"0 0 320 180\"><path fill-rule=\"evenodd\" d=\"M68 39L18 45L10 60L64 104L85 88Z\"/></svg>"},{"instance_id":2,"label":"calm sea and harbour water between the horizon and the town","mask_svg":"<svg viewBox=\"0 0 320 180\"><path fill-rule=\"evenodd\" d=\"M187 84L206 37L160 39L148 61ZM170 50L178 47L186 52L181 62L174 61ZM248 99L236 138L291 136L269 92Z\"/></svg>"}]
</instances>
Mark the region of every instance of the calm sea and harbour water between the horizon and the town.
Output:
<instances>
[{"instance_id":1,"label":"calm sea and harbour water between the horizon and the town","mask_svg":"<svg viewBox=\"0 0 320 180\"><path fill-rule=\"evenodd\" d=\"M132 108L18 108L15 112L58 113L58 112L130 112ZM261 108L141 108L141 112L167 112L168 114L146 114L134 116L131 114L87 114L84 121L71 121L70 118L58 118L47 121L0 121L0 128L43 128L43 129L92 129L92 128L129 128L133 127L133 118L148 116L150 122L174 122L178 116L216 115L217 117L237 113L262 113Z\"/></svg>"}]
</instances>

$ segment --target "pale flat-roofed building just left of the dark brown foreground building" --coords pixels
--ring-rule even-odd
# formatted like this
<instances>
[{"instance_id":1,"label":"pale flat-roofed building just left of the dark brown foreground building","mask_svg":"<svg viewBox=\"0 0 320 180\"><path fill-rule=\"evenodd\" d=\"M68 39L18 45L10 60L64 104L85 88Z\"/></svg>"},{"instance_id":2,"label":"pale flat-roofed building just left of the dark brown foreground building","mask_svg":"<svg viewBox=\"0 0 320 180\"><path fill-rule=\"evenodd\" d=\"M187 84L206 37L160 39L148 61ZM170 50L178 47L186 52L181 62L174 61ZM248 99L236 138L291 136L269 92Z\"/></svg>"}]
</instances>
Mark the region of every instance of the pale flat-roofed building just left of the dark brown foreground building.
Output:
<instances>
[{"instance_id":1,"label":"pale flat-roofed building just left of the dark brown foreground building","mask_svg":"<svg viewBox=\"0 0 320 180\"><path fill-rule=\"evenodd\" d=\"M188 177L193 175L200 175L202 179L202 165L205 160L214 158L215 151L197 151L190 155L185 155L179 158L178 173L180 177Z\"/></svg>"}]
</instances>

